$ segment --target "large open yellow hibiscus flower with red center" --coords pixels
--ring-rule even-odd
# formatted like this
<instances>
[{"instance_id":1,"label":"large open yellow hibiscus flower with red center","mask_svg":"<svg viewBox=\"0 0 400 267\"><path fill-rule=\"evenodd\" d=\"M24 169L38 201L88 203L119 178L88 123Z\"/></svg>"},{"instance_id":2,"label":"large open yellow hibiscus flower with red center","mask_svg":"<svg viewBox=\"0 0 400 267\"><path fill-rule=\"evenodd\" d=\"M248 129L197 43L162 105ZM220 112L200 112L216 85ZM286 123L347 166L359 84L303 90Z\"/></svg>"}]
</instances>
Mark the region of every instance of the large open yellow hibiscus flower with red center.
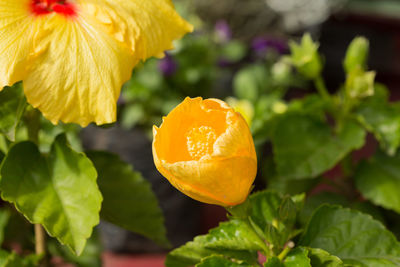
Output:
<instances>
[{"instance_id":1,"label":"large open yellow hibiscus flower with red center","mask_svg":"<svg viewBox=\"0 0 400 267\"><path fill-rule=\"evenodd\" d=\"M111 123L133 67L190 31L171 0L2 0L0 90L23 81L54 124Z\"/></svg>"}]
</instances>

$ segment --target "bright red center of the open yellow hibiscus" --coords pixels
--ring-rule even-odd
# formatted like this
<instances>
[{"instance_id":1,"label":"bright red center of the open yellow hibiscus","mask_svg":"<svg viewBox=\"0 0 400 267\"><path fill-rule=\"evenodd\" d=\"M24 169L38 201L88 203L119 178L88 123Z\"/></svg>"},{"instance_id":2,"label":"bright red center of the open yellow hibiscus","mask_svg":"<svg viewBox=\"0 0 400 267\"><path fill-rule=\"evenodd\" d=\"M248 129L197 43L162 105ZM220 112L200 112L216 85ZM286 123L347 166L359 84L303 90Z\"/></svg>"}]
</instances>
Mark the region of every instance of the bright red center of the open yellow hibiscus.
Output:
<instances>
[{"instance_id":1,"label":"bright red center of the open yellow hibiscus","mask_svg":"<svg viewBox=\"0 0 400 267\"><path fill-rule=\"evenodd\" d=\"M75 6L68 0L31 0L31 11L37 16L52 12L68 17L76 15Z\"/></svg>"}]
</instances>

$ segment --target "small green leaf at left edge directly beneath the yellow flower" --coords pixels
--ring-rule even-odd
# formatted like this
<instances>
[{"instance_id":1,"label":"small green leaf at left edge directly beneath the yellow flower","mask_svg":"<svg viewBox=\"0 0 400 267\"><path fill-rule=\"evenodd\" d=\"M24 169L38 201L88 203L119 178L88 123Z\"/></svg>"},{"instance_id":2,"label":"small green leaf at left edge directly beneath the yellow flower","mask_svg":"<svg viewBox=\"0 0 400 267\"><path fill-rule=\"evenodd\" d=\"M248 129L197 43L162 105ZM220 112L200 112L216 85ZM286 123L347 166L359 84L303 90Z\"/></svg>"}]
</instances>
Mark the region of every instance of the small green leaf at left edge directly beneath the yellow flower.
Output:
<instances>
[{"instance_id":1,"label":"small green leaf at left edge directly beneath the yellow flower","mask_svg":"<svg viewBox=\"0 0 400 267\"><path fill-rule=\"evenodd\" d=\"M11 141L15 140L15 131L26 105L22 83L5 87L0 92L0 133L6 135Z\"/></svg>"}]
</instances>

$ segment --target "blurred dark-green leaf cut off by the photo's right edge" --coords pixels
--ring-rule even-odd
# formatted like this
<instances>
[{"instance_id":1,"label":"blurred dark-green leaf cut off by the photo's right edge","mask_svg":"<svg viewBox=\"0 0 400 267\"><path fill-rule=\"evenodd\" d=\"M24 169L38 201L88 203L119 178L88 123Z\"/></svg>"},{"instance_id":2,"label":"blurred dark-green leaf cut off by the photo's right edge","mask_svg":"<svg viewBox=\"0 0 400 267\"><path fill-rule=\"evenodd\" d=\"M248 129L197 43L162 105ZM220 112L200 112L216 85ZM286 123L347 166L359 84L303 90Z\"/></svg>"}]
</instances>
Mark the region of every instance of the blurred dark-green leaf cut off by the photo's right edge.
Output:
<instances>
[{"instance_id":1,"label":"blurred dark-green leaf cut off by the photo's right edge","mask_svg":"<svg viewBox=\"0 0 400 267\"><path fill-rule=\"evenodd\" d=\"M378 152L360 163L354 178L365 198L400 213L400 153L390 157Z\"/></svg>"}]
</instances>

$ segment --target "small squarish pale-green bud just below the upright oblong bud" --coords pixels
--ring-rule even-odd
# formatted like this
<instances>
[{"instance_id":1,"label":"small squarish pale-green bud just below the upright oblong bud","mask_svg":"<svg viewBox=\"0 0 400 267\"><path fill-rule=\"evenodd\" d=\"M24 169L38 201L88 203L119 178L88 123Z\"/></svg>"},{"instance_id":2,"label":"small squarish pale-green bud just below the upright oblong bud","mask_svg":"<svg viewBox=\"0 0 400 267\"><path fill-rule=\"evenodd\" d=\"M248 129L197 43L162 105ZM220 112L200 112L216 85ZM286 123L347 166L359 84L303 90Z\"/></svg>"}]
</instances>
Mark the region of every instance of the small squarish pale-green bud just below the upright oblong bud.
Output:
<instances>
[{"instance_id":1,"label":"small squarish pale-green bud just below the upright oblong bud","mask_svg":"<svg viewBox=\"0 0 400 267\"><path fill-rule=\"evenodd\" d=\"M375 84L374 71L362 71L354 69L347 75L346 92L351 98L364 98L374 95Z\"/></svg>"}]
</instances>

